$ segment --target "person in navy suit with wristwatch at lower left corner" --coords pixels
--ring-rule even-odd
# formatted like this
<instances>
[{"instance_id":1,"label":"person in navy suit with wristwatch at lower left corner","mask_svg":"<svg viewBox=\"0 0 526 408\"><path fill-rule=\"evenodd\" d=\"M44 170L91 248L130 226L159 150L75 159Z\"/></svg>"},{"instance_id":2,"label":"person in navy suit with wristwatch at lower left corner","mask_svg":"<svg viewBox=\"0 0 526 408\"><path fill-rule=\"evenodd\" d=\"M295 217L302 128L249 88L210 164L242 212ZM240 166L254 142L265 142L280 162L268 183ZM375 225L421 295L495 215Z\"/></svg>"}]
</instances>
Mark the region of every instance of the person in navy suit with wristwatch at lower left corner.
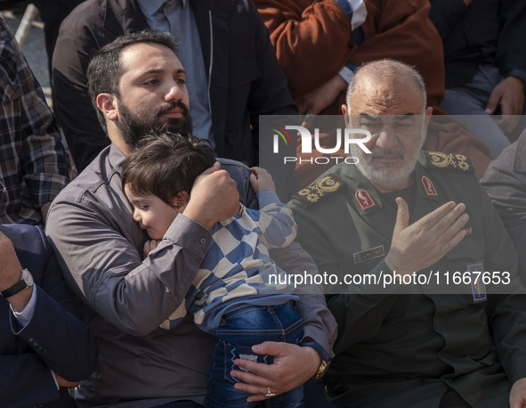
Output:
<instances>
[{"instance_id":1,"label":"person in navy suit with wristwatch at lower left corner","mask_svg":"<svg viewBox=\"0 0 526 408\"><path fill-rule=\"evenodd\" d=\"M97 346L39 227L0 224L0 315L2 406L75 407Z\"/></svg>"}]
</instances>

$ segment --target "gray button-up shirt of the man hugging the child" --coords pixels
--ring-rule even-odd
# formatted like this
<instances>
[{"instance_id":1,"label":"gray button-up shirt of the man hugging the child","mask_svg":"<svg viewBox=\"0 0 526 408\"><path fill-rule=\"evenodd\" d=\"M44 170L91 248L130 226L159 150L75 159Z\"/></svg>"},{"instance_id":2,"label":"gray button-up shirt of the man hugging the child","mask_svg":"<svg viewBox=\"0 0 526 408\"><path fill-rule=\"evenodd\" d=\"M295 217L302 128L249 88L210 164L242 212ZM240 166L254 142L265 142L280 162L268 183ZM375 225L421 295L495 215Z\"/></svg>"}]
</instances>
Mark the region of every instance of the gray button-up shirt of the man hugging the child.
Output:
<instances>
[{"instance_id":1,"label":"gray button-up shirt of the man hugging the child","mask_svg":"<svg viewBox=\"0 0 526 408\"><path fill-rule=\"evenodd\" d=\"M113 144L101 151L53 201L48 216L46 233L99 340L98 368L78 389L78 404L142 408L182 399L203 404L215 339L198 330L191 315L175 330L158 325L184 298L211 232L177 216L158 248L142 260L148 236L134 222L122 190L124 159ZM254 207L247 167L233 160L222 166L237 181L240 200ZM299 245L284 254L289 268L312 270L312 259ZM281 267L293 270L276 255ZM330 352L336 323L324 298L300 296L296 308L304 336Z\"/></svg>"}]
</instances>

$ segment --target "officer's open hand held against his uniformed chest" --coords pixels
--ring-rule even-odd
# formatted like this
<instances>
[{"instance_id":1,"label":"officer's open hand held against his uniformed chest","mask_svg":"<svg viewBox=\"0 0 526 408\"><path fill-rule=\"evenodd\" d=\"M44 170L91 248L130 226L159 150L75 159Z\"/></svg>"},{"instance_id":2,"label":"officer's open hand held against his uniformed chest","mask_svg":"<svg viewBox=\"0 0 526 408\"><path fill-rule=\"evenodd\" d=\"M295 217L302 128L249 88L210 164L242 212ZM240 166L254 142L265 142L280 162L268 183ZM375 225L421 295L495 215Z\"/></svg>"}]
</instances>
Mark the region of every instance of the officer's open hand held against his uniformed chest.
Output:
<instances>
[{"instance_id":1,"label":"officer's open hand held against his uniformed chest","mask_svg":"<svg viewBox=\"0 0 526 408\"><path fill-rule=\"evenodd\" d=\"M397 273L413 273L433 265L462 241L462 229L469 216L464 204L449 201L440 208L409 225L409 208L398 197L398 213L392 232L392 244L385 263Z\"/></svg>"}]
</instances>

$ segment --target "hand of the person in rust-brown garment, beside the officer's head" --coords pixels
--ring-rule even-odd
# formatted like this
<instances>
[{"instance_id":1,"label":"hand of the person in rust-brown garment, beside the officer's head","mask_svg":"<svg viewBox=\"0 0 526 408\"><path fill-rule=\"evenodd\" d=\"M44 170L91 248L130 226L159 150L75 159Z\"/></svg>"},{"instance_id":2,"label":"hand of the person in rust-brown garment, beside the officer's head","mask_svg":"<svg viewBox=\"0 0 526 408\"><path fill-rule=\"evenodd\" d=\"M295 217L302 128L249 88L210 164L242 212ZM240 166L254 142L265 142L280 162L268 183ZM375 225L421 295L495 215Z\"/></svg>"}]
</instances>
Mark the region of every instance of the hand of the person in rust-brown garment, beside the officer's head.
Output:
<instances>
[{"instance_id":1,"label":"hand of the person in rust-brown garment, beside the officer's head","mask_svg":"<svg viewBox=\"0 0 526 408\"><path fill-rule=\"evenodd\" d=\"M335 102L338 95L344 92L347 86L348 84L344 78L336 75L325 84L312 89L311 92L296 97L294 102L302 115L306 113L318 115L321 110Z\"/></svg>"}]
</instances>

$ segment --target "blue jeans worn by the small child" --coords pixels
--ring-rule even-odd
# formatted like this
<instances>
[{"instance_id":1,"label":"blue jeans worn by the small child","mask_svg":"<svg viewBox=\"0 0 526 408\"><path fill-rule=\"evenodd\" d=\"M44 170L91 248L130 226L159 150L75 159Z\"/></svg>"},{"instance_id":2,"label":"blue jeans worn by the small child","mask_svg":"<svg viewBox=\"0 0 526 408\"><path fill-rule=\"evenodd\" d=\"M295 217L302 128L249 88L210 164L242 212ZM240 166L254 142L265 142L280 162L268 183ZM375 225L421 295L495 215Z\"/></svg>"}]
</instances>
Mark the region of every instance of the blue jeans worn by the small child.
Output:
<instances>
[{"instance_id":1,"label":"blue jeans worn by the small child","mask_svg":"<svg viewBox=\"0 0 526 408\"><path fill-rule=\"evenodd\" d=\"M246 392L234 388L239 379L231 376L232 370L241 370L233 361L245 358L258 363L271 364L271 355L256 355L251 347L263 341L285 341L298 344L303 337L302 318L295 311L294 303L279 306L247 306L223 316L221 327L216 330L212 368L208 374L208 408L255 407L247 403ZM302 408L303 387L298 387L268 398L264 406ZM260 402L259 406L263 406Z\"/></svg>"}]
</instances>

